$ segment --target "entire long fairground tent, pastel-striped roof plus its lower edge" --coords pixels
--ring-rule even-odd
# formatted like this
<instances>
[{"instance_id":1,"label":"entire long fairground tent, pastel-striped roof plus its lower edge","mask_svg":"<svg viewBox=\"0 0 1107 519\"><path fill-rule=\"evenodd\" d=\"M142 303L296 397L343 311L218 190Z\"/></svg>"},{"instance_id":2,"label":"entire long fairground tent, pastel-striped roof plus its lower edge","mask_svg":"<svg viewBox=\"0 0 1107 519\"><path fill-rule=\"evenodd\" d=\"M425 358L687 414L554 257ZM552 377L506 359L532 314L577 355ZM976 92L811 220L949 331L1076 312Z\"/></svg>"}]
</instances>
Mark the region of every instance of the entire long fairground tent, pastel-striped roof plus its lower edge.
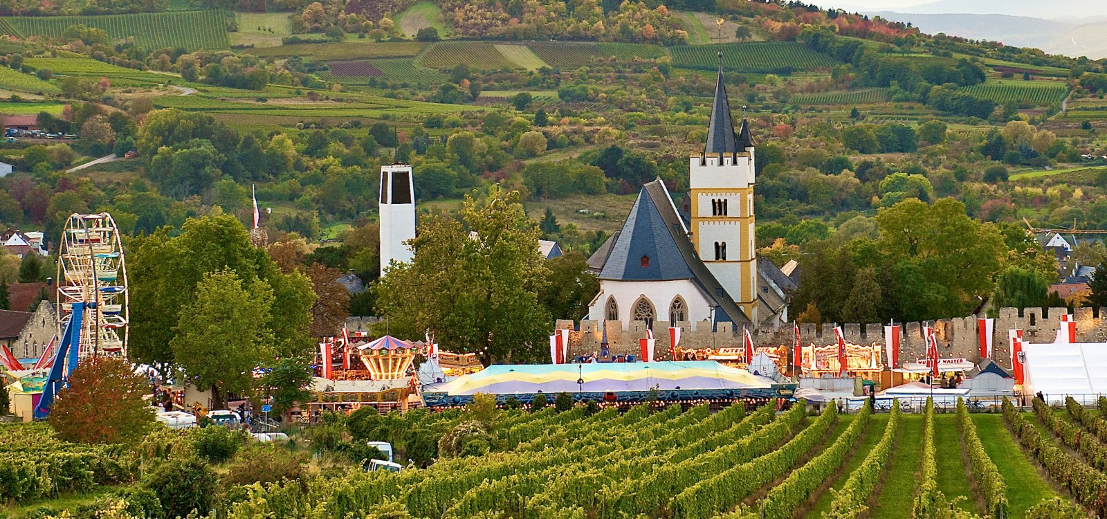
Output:
<instances>
[{"instance_id":1,"label":"entire long fairground tent, pastel-striped roof plus its lower edge","mask_svg":"<svg viewBox=\"0 0 1107 519\"><path fill-rule=\"evenodd\" d=\"M499 403L515 397L528 404L539 394L568 393L578 402L766 402L775 396L770 380L714 361L590 364L493 365L452 382L423 387L427 406L455 406L477 393Z\"/></svg>"}]
</instances>

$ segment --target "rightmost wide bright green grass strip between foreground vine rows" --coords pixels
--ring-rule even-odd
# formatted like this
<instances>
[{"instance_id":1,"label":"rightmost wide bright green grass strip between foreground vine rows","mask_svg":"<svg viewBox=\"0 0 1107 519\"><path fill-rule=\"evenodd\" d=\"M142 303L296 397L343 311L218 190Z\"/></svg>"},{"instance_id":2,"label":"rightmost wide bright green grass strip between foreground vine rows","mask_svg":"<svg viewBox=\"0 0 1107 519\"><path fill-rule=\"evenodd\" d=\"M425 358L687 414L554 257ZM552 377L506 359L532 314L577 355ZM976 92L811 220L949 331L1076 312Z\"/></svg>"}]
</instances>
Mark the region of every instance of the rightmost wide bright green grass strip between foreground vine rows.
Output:
<instances>
[{"instance_id":1,"label":"rightmost wide bright green grass strip between foreground vine rows","mask_svg":"<svg viewBox=\"0 0 1107 519\"><path fill-rule=\"evenodd\" d=\"M976 424L976 435L984 444L984 451L1000 469L1003 482L1007 485L1011 517L1023 517L1027 508L1042 499L1058 496L1034 461L1015 443L1002 415L973 414L972 421Z\"/></svg>"}]
</instances>

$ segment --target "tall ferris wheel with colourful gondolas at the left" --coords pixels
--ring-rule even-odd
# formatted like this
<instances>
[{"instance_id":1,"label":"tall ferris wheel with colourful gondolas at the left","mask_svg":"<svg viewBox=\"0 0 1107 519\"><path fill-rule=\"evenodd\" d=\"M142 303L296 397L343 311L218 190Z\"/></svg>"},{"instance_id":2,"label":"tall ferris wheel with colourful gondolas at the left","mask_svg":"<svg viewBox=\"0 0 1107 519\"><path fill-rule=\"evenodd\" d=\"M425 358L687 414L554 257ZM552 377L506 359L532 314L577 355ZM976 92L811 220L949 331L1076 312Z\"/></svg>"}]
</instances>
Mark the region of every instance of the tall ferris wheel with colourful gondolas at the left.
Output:
<instances>
[{"instance_id":1,"label":"tall ferris wheel with colourful gondolas at the left","mask_svg":"<svg viewBox=\"0 0 1107 519\"><path fill-rule=\"evenodd\" d=\"M59 336L76 308L82 319L74 325L81 328L77 344L70 347L77 356L125 356L127 269L115 220L107 212L70 215L58 258Z\"/></svg>"}]
</instances>

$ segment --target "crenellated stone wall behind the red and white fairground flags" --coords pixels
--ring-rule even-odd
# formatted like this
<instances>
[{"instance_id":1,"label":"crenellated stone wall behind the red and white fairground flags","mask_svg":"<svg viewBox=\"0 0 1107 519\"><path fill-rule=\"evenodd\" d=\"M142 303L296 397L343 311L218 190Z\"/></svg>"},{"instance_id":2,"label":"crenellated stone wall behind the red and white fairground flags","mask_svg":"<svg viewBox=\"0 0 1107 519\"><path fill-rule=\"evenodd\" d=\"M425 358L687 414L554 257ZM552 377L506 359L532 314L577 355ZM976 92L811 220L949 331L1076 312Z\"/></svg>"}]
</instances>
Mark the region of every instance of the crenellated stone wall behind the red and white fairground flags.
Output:
<instances>
[{"instance_id":1,"label":"crenellated stone wall behind the red and white fairground flags","mask_svg":"<svg viewBox=\"0 0 1107 519\"><path fill-rule=\"evenodd\" d=\"M1007 330L1023 330L1023 340L1031 343L1053 342L1061 328L1059 316L1065 314L1065 309L1055 308L1043 311L1041 308L1014 309L1004 308L995 320L992 339L992 359L1004 369L1011 367L1011 354L1007 346ZM1075 311L1076 338L1079 342L1107 342L1107 309L1100 309L1096 318L1090 308L1078 308ZM570 340L570 353L580 355L584 353L599 352L600 343L603 340L601 325L607 325L608 347L612 355L639 354L639 339L645 339L645 323L635 321L629 330L623 330L619 322L601 323L600 321L580 321L573 323L569 320L559 320L557 328L573 329ZM705 349L705 347L738 347L742 345L742 326L736 329L732 323L718 323L715 332L711 331L711 324L704 320L695 323L680 322L681 347ZM900 363L914 362L925 355L925 342L922 336L924 325L932 325L938 336L939 354L943 359L968 359L979 362L980 345L976 336L976 316L942 319L928 322L901 323L903 331L900 339ZM658 321L653 324L653 336L656 340L655 355L658 359L669 357L669 323ZM883 324L842 324L842 332L847 342L855 344L883 344ZM821 329L821 330L820 330ZM792 326L782 326L773 330L756 330L752 333L754 344L757 346L779 346L793 344ZM819 345L832 344L835 339L834 324L800 324L800 341L806 345L815 343Z\"/></svg>"}]
</instances>

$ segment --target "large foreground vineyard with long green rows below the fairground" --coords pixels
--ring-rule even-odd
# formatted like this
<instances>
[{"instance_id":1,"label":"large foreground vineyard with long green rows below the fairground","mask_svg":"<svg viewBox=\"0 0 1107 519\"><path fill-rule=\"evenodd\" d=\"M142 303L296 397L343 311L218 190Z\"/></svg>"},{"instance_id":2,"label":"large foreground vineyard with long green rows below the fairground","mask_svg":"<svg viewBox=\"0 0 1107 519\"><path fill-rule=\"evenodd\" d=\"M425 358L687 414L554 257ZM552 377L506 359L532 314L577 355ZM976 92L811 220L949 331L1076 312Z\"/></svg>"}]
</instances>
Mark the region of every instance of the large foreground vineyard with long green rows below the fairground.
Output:
<instances>
[{"instance_id":1,"label":"large foreground vineyard with long green rows below the fairground","mask_svg":"<svg viewBox=\"0 0 1107 519\"><path fill-rule=\"evenodd\" d=\"M713 412L708 404L682 411L646 403L624 413L498 412L490 423L466 422L476 416L466 413L426 468L349 473L310 494L291 484L257 487L229 517L814 519L858 517L868 508L868 517L902 518L906 510L938 517L956 506L966 517L991 518L1025 517L1032 507L1048 510L1038 517L1061 517L1051 513L1072 507L1041 474L1026 471L1034 450L1011 448L1012 433L995 427L999 415L971 415L963 403L955 414L929 405L922 416L891 408L840 415L834 405L808 414L798 405ZM1090 416L1096 412L1070 413L1088 430L1103 423ZM1024 421L1015 432L1032 429ZM997 447L1003 459L993 463ZM1103 478L1097 474L1058 482L1077 489ZM1012 479L1017 488L1005 482ZM1021 492L1035 499L1008 499Z\"/></svg>"}]
</instances>

